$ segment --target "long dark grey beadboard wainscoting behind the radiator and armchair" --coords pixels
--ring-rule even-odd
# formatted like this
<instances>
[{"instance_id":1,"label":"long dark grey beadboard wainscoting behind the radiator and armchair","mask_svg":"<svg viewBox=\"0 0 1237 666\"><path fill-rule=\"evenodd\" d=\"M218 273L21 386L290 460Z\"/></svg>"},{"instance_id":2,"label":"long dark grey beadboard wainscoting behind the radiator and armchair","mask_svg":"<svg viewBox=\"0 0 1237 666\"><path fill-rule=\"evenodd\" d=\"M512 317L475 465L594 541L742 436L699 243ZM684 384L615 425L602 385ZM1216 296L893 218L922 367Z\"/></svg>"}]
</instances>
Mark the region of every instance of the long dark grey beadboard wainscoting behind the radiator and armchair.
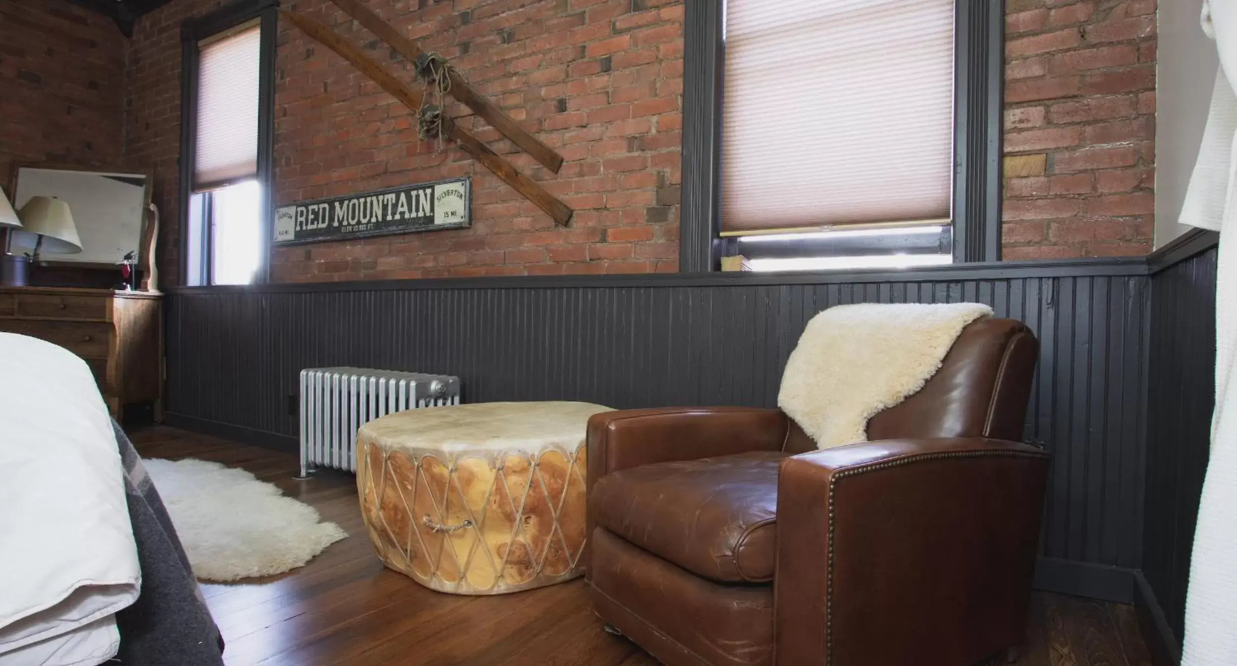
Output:
<instances>
[{"instance_id":1,"label":"long dark grey beadboard wainscoting behind the radiator and armchair","mask_svg":"<svg viewBox=\"0 0 1237 666\"><path fill-rule=\"evenodd\" d=\"M1053 452L1038 583L1132 599L1144 547L1144 258L177 289L168 423L291 449L299 371L336 365L456 374L466 402L768 407L815 313L959 300L1021 319L1040 340L1025 430Z\"/></svg>"}]
</instances>

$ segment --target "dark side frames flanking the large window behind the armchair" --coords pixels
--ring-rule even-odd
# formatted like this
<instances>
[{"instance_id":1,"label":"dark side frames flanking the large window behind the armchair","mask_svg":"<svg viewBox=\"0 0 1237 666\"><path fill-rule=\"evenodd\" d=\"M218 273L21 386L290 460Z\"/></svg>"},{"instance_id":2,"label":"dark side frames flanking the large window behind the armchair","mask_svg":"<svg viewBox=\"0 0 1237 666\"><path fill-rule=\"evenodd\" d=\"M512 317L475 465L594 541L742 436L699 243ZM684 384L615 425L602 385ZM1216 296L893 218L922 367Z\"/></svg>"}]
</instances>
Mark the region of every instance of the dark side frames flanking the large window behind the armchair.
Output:
<instances>
[{"instance_id":1,"label":"dark side frames flanking the large window behind the armchair","mask_svg":"<svg viewBox=\"0 0 1237 666\"><path fill-rule=\"evenodd\" d=\"M1004 0L955 0L955 263L1001 261ZM685 0L679 272L720 269L724 0Z\"/></svg>"}]
</instances>

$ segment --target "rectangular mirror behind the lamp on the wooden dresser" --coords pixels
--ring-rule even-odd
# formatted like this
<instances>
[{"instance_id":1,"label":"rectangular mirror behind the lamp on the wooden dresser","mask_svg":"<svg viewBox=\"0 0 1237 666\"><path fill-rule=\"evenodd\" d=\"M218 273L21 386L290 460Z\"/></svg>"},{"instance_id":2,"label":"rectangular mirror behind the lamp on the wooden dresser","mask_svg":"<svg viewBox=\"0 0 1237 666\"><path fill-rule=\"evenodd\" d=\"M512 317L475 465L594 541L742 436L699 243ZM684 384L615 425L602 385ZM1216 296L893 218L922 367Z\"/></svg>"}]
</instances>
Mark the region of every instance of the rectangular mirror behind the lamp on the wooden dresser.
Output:
<instances>
[{"instance_id":1,"label":"rectangular mirror behind the lamp on the wooden dresser","mask_svg":"<svg viewBox=\"0 0 1237 666\"><path fill-rule=\"evenodd\" d=\"M94 171L54 166L17 166L11 189L14 208L21 210L31 196L54 196L73 214L82 252L42 251L40 259L54 263L114 266L129 252L139 261L142 221L151 198L151 177L145 173ZM14 230L9 252L33 252L37 235Z\"/></svg>"}]
</instances>

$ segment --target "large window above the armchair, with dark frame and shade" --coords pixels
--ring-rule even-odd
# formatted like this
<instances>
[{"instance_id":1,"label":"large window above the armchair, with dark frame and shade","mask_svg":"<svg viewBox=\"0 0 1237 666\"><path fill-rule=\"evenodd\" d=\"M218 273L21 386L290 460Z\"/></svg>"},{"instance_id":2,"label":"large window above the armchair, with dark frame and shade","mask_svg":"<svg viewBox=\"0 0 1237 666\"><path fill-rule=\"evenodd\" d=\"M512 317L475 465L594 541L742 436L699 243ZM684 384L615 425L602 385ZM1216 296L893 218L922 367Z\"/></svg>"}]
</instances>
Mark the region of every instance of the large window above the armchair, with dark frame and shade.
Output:
<instances>
[{"instance_id":1,"label":"large window above the armchair, with dark frame and shade","mask_svg":"<svg viewBox=\"0 0 1237 666\"><path fill-rule=\"evenodd\" d=\"M687 17L683 269L997 258L999 2L701 5Z\"/></svg>"}]
</instances>

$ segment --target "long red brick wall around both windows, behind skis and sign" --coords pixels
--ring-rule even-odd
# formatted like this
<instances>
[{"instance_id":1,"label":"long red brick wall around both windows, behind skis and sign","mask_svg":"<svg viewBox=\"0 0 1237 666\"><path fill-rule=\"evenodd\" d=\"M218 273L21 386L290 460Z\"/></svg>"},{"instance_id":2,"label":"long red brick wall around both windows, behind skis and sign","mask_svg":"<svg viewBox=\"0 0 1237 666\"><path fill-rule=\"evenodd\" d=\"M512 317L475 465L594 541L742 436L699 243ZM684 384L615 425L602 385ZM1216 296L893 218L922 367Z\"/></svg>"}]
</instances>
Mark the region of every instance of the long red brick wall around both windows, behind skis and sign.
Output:
<instances>
[{"instance_id":1,"label":"long red brick wall around both windows, behind skis and sign","mask_svg":"<svg viewBox=\"0 0 1237 666\"><path fill-rule=\"evenodd\" d=\"M165 274L176 282L179 22L219 0L143 16L130 49L126 157L157 172ZM468 174L474 227L276 250L278 280L677 269L682 141L679 0L369 0L448 56L567 164L538 166L452 114L576 209L570 229L455 148L419 141L411 115L320 44L281 25L276 201ZM287 7L325 21L407 82L386 46L329 0ZM1153 0L1008 0L1006 258L1150 250Z\"/></svg>"}]
</instances>

